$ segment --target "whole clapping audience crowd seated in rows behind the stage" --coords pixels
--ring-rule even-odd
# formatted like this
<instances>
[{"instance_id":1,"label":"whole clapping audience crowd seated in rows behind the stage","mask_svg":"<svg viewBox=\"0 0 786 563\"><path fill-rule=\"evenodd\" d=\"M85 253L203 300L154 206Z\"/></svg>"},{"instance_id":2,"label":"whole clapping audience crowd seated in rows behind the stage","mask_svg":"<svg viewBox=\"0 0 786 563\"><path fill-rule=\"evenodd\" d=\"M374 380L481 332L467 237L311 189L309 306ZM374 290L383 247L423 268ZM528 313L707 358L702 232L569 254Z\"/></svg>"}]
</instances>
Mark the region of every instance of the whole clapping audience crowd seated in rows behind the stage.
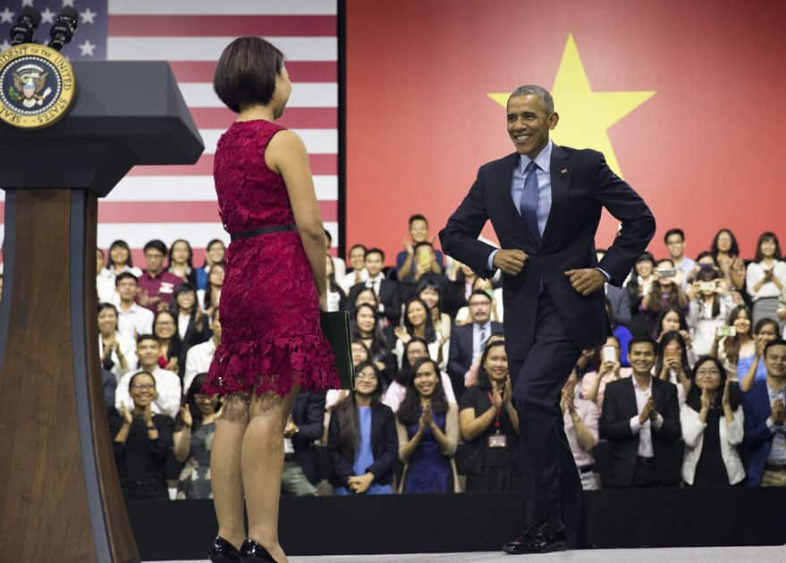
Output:
<instances>
[{"instance_id":1,"label":"whole clapping audience crowd seated in rows behind the stage","mask_svg":"<svg viewBox=\"0 0 786 563\"><path fill-rule=\"evenodd\" d=\"M329 307L351 315L356 387L300 393L283 432L283 494L520 490L503 274L481 277L430 241L413 215L395 266L362 244L348 264L327 259ZM663 242L622 288L606 284L611 334L562 389L581 483L786 486L777 236L763 233L748 263L728 229L695 260L680 229ZM201 385L221 342L224 253L211 240L195 266L186 240L151 240L139 269L123 240L97 251L99 355L127 498L212 496L221 401Z\"/></svg>"}]
</instances>

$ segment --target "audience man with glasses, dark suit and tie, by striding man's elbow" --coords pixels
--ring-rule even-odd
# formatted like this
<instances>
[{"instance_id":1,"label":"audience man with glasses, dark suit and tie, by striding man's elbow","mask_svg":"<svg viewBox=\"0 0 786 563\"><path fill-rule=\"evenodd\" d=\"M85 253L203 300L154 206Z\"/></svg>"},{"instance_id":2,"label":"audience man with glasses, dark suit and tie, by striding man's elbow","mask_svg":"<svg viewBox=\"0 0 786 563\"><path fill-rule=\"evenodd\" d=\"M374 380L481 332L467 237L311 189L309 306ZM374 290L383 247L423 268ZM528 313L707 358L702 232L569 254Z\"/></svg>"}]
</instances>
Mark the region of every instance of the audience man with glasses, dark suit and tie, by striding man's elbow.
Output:
<instances>
[{"instance_id":1,"label":"audience man with glasses, dark suit and tie, by striding man's elbow","mask_svg":"<svg viewBox=\"0 0 786 563\"><path fill-rule=\"evenodd\" d=\"M448 375L456 400L464 394L464 374L483 354L488 337L503 333L503 325L491 320L491 297L486 291L476 290L469 296L469 319L471 323L454 326L451 331Z\"/></svg>"}]
</instances>

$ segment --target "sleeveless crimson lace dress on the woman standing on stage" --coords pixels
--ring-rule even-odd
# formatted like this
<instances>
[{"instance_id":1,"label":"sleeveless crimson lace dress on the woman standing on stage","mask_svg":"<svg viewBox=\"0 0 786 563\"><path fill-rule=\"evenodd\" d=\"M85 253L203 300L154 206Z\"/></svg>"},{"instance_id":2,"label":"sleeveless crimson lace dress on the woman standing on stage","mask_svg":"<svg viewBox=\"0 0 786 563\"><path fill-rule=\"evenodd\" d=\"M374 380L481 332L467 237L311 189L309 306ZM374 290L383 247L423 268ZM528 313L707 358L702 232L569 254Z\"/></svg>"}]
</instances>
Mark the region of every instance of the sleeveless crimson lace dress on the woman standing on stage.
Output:
<instances>
[{"instance_id":1,"label":"sleeveless crimson lace dress on the woman standing on stage","mask_svg":"<svg viewBox=\"0 0 786 563\"><path fill-rule=\"evenodd\" d=\"M227 232L295 222L286 186L265 164L265 149L283 128L235 122L218 140L213 175ZM221 345L203 392L256 388L281 396L340 386L333 350L319 326L314 274L297 231L237 239L227 248L221 289Z\"/></svg>"}]
</instances>

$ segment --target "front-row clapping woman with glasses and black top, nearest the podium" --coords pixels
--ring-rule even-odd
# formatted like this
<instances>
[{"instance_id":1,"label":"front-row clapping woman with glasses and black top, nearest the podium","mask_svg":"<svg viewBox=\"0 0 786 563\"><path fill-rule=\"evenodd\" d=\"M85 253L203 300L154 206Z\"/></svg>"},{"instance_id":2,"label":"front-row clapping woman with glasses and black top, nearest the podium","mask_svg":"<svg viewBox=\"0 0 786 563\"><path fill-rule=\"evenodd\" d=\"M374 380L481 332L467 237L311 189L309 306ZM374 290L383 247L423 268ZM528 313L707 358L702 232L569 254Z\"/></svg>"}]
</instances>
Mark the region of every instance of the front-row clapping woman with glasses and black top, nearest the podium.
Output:
<instances>
[{"instance_id":1,"label":"front-row clapping woman with glasses and black top, nearest the podium","mask_svg":"<svg viewBox=\"0 0 786 563\"><path fill-rule=\"evenodd\" d=\"M132 407L121 405L109 421L123 498L168 499L164 469L172 452L172 418L152 408L157 396L153 375L142 371L125 383Z\"/></svg>"}]
</instances>

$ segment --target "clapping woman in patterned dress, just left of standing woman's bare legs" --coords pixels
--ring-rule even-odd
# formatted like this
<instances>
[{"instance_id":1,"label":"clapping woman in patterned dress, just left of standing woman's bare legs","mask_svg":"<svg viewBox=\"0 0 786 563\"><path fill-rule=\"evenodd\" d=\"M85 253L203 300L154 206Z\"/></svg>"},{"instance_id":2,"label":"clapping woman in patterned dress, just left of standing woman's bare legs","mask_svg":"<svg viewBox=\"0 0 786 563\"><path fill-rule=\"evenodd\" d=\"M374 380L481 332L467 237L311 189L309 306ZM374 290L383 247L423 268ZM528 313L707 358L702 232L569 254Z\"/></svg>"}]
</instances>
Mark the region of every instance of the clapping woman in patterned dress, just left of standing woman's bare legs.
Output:
<instances>
[{"instance_id":1,"label":"clapping woman in patterned dress, just left of standing woman's bare legs","mask_svg":"<svg viewBox=\"0 0 786 563\"><path fill-rule=\"evenodd\" d=\"M177 499L212 499L210 452L220 407L218 395L202 393L207 374L199 374L186 392L186 402L174 420L174 458L184 464Z\"/></svg>"}]
</instances>

